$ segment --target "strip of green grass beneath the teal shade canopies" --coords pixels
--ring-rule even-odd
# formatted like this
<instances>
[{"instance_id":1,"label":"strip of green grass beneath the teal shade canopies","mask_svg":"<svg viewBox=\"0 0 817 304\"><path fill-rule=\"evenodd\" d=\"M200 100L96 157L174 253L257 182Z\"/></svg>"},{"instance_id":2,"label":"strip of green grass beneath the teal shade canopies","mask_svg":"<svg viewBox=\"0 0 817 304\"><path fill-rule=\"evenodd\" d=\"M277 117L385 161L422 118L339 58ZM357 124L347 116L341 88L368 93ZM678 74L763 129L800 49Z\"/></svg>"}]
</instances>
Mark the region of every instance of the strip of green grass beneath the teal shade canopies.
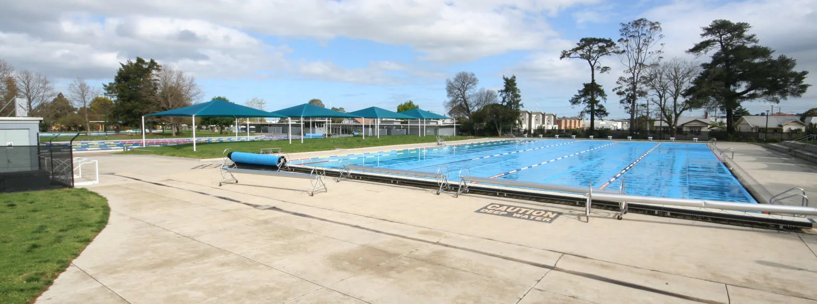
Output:
<instances>
[{"instance_id":1,"label":"strip of green grass beneath the teal shade canopies","mask_svg":"<svg viewBox=\"0 0 817 304\"><path fill-rule=\"evenodd\" d=\"M468 136L451 136L446 140L459 141L467 138ZM233 150L235 151L249 153L258 153L258 150L261 148L281 148L281 152L283 153L296 153L335 149L365 148L379 145L434 143L436 141L437 141L436 136L421 137L416 135L381 136L380 138L366 136L366 139L363 139L363 137L337 137L337 138L305 139L303 144L301 144L301 140L297 141L292 140L292 145L289 144L289 141L239 141L239 142L220 142L213 144L197 144L196 152L193 152L193 145L190 144L138 148L139 150L128 150L127 152L120 153L167 155L189 157L193 159L213 159L221 157L221 153L224 152L224 150L227 148L233 148ZM145 150L149 150L150 152Z\"/></svg>"}]
</instances>

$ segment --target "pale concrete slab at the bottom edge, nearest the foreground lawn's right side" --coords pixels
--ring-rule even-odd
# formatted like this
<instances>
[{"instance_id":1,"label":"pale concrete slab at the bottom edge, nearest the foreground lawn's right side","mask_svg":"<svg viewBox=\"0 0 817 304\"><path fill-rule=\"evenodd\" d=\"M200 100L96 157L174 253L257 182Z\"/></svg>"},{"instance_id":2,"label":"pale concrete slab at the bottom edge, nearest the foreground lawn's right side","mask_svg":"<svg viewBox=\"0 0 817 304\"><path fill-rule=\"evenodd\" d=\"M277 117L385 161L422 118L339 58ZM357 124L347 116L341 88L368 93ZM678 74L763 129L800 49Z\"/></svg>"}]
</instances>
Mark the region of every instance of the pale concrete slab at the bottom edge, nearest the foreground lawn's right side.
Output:
<instances>
[{"instance_id":1,"label":"pale concrete slab at the bottom edge, nearest the foreground lawn's right side","mask_svg":"<svg viewBox=\"0 0 817 304\"><path fill-rule=\"evenodd\" d=\"M236 255L190 261L109 287L129 302L141 303L286 302L320 288Z\"/></svg>"}]
</instances>

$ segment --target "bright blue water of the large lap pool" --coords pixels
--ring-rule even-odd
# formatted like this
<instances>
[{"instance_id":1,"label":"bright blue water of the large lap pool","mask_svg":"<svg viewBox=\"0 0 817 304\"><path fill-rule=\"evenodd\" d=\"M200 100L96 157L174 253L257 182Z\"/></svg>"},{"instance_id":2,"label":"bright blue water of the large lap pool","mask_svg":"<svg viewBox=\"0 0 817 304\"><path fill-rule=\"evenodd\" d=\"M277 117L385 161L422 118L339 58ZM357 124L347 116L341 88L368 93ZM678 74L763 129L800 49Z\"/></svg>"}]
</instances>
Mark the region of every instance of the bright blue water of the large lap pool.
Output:
<instances>
[{"instance_id":1,"label":"bright blue water of the large lap pool","mask_svg":"<svg viewBox=\"0 0 817 304\"><path fill-rule=\"evenodd\" d=\"M705 144L644 141L493 141L427 149L350 154L291 162L342 168L345 164L437 172L456 181L463 169L477 177L618 190L627 194L757 203Z\"/></svg>"}]
</instances>

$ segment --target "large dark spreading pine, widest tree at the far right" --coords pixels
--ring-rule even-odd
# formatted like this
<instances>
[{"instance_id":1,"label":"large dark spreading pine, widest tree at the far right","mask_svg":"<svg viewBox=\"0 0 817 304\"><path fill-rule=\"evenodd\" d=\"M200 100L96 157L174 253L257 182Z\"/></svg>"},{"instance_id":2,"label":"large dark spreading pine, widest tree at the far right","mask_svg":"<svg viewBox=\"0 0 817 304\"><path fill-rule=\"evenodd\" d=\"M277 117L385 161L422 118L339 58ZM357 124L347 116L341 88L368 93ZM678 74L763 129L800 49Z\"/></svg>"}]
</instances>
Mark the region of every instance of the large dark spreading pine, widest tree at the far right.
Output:
<instances>
[{"instance_id":1,"label":"large dark spreading pine, widest tree at the far right","mask_svg":"<svg viewBox=\"0 0 817 304\"><path fill-rule=\"evenodd\" d=\"M714 20L703 27L704 40L687 50L695 56L714 51L712 59L701 65L694 87L685 94L693 98L708 98L726 112L726 131L734 128L735 110L743 101L779 103L788 97L800 97L809 84L803 83L807 71L797 72L797 61L784 55L772 57L769 47L757 45L751 25L745 22Z\"/></svg>"}]
</instances>

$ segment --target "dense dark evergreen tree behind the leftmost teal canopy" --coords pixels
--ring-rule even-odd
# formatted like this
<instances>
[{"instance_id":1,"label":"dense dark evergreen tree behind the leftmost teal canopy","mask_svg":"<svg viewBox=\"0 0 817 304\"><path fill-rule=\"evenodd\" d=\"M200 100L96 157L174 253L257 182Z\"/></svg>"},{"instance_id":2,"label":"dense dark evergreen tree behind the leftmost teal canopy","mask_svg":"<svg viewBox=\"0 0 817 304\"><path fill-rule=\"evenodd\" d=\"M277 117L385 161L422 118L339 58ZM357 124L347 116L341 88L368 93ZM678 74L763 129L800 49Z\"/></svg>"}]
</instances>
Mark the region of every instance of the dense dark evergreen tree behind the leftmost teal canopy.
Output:
<instances>
[{"instance_id":1,"label":"dense dark evergreen tree behind the leftmost teal canopy","mask_svg":"<svg viewBox=\"0 0 817 304\"><path fill-rule=\"evenodd\" d=\"M116 96L109 121L136 127L141 125L142 116L157 109L156 74L161 66L153 59L147 61L141 57L119 65L114 81L103 86L108 95Z\"/></svg>"}]
</instances>

